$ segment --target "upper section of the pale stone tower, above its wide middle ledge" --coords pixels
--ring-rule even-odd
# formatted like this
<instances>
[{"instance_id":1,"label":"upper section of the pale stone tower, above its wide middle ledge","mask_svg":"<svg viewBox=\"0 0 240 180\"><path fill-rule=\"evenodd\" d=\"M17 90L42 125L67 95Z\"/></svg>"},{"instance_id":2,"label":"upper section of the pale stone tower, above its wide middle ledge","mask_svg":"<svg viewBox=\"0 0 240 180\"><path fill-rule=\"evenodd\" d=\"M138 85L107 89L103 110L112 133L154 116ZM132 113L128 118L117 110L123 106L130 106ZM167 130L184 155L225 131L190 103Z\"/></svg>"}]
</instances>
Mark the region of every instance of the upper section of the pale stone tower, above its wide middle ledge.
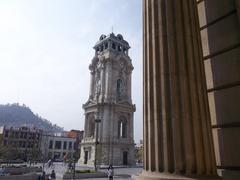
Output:
<instances>
[{"instance_id":1,"label":"upper section of the pale stone tower, above its wide middle ledge","mask_svg":"<svg viewBox=\"0 0 240 180\"><path fill-rule=\"evenodd\" d=\"M113 33L101 35L94 46L95 56L89 66L91 71L90 100L113 103L131 103L131 73L128 56L130 46L123 36Z\"/></svg>"}]
</instances>

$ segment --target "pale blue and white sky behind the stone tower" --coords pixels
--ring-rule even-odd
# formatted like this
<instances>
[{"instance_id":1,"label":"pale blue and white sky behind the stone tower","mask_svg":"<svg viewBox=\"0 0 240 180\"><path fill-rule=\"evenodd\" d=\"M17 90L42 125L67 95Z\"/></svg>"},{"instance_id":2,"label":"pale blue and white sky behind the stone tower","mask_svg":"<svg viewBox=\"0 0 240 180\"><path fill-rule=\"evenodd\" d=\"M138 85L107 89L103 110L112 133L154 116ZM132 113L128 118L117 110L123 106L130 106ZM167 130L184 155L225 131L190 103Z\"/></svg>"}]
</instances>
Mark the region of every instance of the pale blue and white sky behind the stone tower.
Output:
<instances>
[{"instance_id":1,"label":"pale blue and white sky behind the stone tower","mask_svg":"<svg viewBox=\"0 0 240 180\"><path fill-rule=\"evenodd\" d=\"M20 103L65 130L84 128L88 66L101 34L131 46L134 139L142 139L141 0L0 0L0 104Z\"/></svg>"}]
</instances>

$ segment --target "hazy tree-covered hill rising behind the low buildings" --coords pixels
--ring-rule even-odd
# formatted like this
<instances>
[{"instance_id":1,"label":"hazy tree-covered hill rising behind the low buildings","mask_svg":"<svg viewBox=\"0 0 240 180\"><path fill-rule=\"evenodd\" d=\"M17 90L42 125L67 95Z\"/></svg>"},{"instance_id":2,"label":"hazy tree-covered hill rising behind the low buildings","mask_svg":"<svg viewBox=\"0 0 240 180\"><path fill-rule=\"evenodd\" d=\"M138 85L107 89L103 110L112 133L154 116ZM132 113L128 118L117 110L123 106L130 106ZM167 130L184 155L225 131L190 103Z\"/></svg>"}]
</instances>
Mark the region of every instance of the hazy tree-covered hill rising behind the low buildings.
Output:
<instances>
[{"instance_id":1,"label":"hazy tree-covered hill rising behind the low buildings","mask_svg":"<svg viewBox=\"0 0 240 180\"><path fill-rule=\"evenodd\" d=\"M63 128L34 114L26 105L18 103L0 105L0 126L35 126L49 132L62 132Z\"/></svg>"}]
</instances>

